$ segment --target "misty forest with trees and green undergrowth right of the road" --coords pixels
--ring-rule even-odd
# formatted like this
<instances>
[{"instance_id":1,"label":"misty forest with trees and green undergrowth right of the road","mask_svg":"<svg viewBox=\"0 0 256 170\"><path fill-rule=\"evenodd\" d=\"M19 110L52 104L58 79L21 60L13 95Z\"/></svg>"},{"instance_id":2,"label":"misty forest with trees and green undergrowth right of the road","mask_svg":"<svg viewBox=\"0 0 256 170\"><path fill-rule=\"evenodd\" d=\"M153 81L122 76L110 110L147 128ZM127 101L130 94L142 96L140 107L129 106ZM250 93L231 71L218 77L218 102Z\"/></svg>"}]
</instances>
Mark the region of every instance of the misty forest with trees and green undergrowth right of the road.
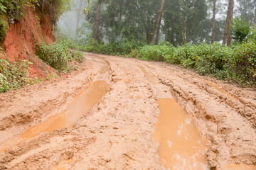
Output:
<instances>
[{"instance_id":1,"label":"misty forest with trees and green undergrowth right of the road","mask_svg":"<svg viewBox=\"0 0 256 170\"><path fill-rule=\"evenodd\" d=\"M73 49L178 64L255 86L255 4L255 0L90 4L78 0L60 18L56 33L68 38Z\"/></svg>"}]
</instances>

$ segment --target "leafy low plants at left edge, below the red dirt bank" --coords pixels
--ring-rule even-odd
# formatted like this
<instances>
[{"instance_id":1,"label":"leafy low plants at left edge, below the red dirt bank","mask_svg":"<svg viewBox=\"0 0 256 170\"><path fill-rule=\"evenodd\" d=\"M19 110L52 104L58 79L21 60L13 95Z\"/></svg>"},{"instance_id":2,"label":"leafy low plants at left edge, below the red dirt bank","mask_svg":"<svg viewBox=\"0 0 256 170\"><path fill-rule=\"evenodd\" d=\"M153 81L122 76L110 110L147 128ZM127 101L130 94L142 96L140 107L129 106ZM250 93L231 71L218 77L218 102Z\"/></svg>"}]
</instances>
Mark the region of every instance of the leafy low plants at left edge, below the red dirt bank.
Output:
<instances>
[{"instance_id":1,"label":"leafy low plants at left edge, below the red dirt bank","mask_svg":"<svg viewBox=\"0 0 256 170\"><path fill-rule=\"evenodd\" d=\"M31 62L28 60L19 62L0 60L0 93L33 84L35 79L29 77L29 64Z\"/></svg>"}]
</instances>

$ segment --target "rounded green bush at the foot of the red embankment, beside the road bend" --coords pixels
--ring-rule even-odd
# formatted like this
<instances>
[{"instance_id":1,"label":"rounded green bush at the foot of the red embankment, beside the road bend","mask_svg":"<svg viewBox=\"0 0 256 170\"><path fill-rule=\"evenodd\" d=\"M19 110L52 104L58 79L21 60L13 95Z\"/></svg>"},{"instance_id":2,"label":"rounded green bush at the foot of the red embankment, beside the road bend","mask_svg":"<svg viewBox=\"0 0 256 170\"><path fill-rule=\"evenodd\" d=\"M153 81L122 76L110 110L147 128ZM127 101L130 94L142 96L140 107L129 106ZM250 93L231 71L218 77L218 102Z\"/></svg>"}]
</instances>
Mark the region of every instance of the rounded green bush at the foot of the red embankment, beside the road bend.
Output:
<instances>
[{"instance_id":1,"label":"rounded green bush at the foot of the red embankment, beside the road bend","mask_svg":"<svg viewBox=\"0 0 256 170\"><path fill-rule=\"evenodd\" d=\"M65 42L54 42L51 45L46 45L45 42L41 42L37 54L43 61L50 65L50 67L58 70L67 69L68 62L70 62L72 58L68 45Z\"/></svg>"}]
</instances>

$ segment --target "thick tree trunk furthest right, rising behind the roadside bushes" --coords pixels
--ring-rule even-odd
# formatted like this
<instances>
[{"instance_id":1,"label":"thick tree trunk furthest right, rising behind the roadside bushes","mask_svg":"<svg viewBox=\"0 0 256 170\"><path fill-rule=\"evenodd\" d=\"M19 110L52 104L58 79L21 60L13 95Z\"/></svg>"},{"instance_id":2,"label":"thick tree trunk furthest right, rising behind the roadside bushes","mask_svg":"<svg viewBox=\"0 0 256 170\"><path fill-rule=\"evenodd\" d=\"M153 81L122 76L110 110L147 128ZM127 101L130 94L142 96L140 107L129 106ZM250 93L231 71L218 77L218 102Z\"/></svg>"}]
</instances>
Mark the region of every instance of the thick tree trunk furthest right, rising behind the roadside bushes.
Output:
<instances>
[{"instance_id":1,"label":"thick tree trunk furthest right, rising behind the roadside bushes","mask_svg":"<svg viewBox=\"0 0 256 170\"><path fill-rule=\"evenodd\" d=\"M223 45L230 45L232 40L231 29L233 23L233 13L234 13L234 0L229 0L228 2L228 12L227 18L225 20L225 28L224 28L224 35L223 35Z\"/></svg>"}]
</instances>

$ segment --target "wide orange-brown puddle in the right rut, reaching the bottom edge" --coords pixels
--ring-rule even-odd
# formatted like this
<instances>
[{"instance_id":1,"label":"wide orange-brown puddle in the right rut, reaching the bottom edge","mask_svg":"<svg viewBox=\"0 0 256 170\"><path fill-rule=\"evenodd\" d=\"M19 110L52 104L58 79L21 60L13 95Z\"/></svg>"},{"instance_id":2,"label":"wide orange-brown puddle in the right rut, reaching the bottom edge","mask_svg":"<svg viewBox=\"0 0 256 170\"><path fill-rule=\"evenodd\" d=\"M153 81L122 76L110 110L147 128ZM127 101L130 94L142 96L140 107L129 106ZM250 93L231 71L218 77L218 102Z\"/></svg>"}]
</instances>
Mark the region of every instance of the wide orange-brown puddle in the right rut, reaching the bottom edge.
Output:
<instances>
[{"instance_id":1,"label":"wide orange-brown puddle in the right rut, reaching the bottom edge","mask_svg":"<svg viewBox=\"0 0 256 170\"><path fill-rule=\"evenodd\" d=\"M166 169L209 169L205 154L208 149L193 118L171 98L158 100L160 115L154 137L159 141L160 162Z\"/></svg>"}]
</instances>

